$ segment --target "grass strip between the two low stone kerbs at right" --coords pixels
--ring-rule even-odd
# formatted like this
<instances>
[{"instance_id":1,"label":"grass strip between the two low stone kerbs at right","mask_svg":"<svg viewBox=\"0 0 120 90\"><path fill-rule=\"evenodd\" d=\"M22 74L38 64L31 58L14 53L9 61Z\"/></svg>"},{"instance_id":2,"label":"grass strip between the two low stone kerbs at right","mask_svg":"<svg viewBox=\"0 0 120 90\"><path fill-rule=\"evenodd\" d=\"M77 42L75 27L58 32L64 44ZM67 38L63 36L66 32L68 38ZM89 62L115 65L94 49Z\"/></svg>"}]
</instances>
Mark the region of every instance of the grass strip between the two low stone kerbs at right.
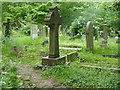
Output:
<instances>
[{"instance_id":1,"label":"grass strip between the two low stone kerbs at right","mask_svg":"<svg viewBox=\"0 0 120 90\"><path fill-rule=\"evenodd\" d=\"M93 66L102 66L109 68L118 68L118 58L103 57L99 54L92 54L90 52L80 52L79 57L84 59L85 62L82 64L93 65Z\"/></svg>"}]
</instances>

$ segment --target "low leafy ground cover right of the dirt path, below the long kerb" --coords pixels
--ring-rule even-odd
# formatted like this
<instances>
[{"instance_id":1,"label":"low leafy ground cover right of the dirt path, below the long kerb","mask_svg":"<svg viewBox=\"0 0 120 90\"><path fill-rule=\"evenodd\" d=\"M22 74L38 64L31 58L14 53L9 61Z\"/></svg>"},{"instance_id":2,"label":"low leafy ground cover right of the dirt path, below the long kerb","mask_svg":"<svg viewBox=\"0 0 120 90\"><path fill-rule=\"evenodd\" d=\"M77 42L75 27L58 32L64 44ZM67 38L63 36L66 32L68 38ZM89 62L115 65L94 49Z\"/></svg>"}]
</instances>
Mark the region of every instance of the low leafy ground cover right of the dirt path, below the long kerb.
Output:
<instances>
[{"instance_id":1,"label":"low leafy ground cover right of the dirt path, below the long kerb","mask_svg":"<svg viewBox=\"0 0 120 90\"><path fill-rule=\"evenodd\" d=\"M103 75L104 74L104 75ZM61 83L72 88L118 88L116 73L75 66L54 66L47 68L43 75L60 78Z\"/></svg>"}]
</instances>

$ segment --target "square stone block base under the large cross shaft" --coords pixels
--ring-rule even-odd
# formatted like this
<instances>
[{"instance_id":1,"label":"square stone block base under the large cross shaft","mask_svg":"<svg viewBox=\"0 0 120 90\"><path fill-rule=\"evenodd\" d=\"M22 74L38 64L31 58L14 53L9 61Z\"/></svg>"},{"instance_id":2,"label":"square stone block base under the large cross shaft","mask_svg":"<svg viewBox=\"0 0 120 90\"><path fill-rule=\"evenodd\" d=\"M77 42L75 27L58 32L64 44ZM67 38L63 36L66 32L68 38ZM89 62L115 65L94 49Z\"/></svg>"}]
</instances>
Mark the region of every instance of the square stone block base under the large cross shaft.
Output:
<instances>
[{"instance_id":1,"label":"square stone block base under the large cross shaft","mask_svg":"<svg viewBox=\"0 0 120 90\"><path fill-rule=\"evenodd\" d=\"M42 65L55 66L55 65L62 65L65 63L66 63L65 56L60 56L58 58L49 58L49 57L42 58Z\"/></svg>"}]
</instances>

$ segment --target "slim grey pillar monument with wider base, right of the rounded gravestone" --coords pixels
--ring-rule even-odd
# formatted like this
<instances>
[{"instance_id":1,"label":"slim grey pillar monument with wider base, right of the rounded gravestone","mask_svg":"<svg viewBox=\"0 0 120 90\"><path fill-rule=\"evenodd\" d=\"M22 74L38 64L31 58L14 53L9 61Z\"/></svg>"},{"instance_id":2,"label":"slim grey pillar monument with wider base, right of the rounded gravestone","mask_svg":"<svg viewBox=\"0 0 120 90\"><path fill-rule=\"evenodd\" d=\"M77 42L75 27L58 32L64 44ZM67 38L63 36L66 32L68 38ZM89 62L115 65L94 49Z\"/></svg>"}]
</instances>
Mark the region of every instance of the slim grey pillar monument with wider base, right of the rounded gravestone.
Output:
<instances>
[{"instance_id":1,"label":"slim grey pillar monument with wider base, right of the rounded gravestone","mask_svg":"<svg viewBox=\"0 0 120 90\"><path fill-rule=\"evenodd\" d=\"M108 47L108 27L107 27L107 24L103 25L103 40L102 40L102 44L100 46L103 48Z\"/></svg>"}]
</instances>

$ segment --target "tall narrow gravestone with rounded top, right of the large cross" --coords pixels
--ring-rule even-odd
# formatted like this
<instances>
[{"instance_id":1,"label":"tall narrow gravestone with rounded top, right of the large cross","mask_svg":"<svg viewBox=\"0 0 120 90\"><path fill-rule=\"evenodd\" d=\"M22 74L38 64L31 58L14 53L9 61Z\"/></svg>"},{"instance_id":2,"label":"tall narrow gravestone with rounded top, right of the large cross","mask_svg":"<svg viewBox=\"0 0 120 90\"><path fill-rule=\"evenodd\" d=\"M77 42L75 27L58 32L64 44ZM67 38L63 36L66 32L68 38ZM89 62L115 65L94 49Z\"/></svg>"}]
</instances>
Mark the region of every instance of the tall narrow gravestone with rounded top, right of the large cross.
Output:
<instances>
[{"instance_id":1,"label":"tall narrow gravestone with rounded top, right of the large cross","mask_svg":"<svg viewBox=\"0 0 120 90\"><path fill-rule=\"evenodd\" d=\"M93 50L93 25L89 21L86 26L86 49Z\"/></svg>"}]
</instances>

